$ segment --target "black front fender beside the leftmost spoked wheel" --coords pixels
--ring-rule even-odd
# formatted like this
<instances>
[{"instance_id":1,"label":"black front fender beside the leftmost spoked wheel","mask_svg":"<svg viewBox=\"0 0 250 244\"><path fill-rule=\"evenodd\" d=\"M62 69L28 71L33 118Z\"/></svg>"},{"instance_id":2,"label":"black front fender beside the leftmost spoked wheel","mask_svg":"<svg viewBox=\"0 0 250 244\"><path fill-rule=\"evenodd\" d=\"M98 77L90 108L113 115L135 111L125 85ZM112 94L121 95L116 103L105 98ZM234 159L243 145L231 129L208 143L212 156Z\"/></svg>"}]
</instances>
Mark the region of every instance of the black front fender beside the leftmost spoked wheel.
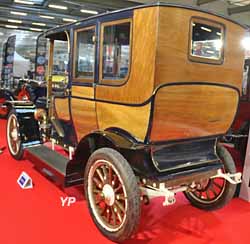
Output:
<instances>
[{"instance_id":1,"label":"black front fender beside the leftmost spoked wheel","mask_svg":"<svg viewBox=\"0 0 250 244\"><path fill-rule=\"evenodd\" d=\"M34 118L35 105L32 103L12 103L12 111L17 116L19 133L23 148L41 144L41 136L38 121Z\"/></svg>"}]
</instances>

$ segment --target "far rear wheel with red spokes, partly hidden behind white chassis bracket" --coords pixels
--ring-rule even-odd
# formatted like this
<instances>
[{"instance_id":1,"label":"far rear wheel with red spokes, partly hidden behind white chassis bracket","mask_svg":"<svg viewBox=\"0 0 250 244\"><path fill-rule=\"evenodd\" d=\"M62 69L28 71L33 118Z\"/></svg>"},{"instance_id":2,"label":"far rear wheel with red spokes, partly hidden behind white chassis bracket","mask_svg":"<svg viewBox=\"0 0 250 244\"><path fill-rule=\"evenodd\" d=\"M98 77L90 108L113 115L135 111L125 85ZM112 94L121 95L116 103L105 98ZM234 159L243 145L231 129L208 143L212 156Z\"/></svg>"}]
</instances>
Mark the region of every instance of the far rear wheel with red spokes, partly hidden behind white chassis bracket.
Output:
<instances>
[{"instance_id":1,"label":"far rear wheel with red spokes, partly hidden behind white chassis bracket","mask_svg":"<svg viewBox=\"0 0 250 244\"><path fill-rule=\"evenodd\" d=\"M217 154L223 162L224 172L231 174L236 173L234 160L228 150L222 145L218 145ZM224 181L223 185L221 185L221 188L218 187L218 181ZM215 189L217 189L218 192L216 192ZM213 191L216 192L217 196L213 193ZM204 210L215 210L224 207L234 197L235 191L236 185L229 183L225 179L215 178L209 179L207 185L202 190L200 189L194 192L184 192L184 194L193 206ZM204 195L208 196L207 194L209 194L209 192L213 193L213 198L208 199L208 197L204 197Z\"/></svg>"}]
</instances>

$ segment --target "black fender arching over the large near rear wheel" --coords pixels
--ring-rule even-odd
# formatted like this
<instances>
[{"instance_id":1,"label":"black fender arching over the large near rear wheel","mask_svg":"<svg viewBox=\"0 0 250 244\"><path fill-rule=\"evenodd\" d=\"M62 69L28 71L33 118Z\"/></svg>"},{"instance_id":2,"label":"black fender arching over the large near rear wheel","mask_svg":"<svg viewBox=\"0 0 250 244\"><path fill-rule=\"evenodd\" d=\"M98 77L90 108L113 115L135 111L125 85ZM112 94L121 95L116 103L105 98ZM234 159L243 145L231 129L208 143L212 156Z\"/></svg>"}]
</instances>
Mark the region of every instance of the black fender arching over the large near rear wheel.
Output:
<instances>
[{"instance_id":1,"label":"black fender arching over the large near rear wheel","mask_svg":"<svg viewBox=\"0 0 250 244\"><path fill-rule=\"evenodd\" d=\"M95 131L81 139L73 159L67 165L66 174L79 172L83 175L90 155L103 147L120 152L137 175L152 176L155 172L148 145L138 142L126 131L110 128L105 131Z\"/></svg>"}]
</instances>

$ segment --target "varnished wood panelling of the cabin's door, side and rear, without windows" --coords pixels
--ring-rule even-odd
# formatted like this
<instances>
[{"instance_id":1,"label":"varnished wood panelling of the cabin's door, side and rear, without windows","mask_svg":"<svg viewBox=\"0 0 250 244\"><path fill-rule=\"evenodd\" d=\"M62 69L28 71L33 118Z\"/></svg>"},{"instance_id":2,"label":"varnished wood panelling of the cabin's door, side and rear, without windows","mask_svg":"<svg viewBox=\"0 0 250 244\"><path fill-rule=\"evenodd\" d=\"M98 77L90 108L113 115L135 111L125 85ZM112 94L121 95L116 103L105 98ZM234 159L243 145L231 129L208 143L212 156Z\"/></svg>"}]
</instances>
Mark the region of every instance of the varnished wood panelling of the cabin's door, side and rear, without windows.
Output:
<instances>
[{"instance_id":1,"label":"varnished wood panelling of the cabin's door, side and rear, without windows","mask_svg":"<svg viewBox=\"0 0 250 244\"><path fill-rule=\"evenodd\" d=\"M189 30L192 17L225 25L226 46L222 65L192 62ZM143 103L153 90L170 82L214 82L241 89L242 27L220 17L173 7L134 10L131 69L122 86L96 86L96 99ZM94 98L94 88L73 87L72 95ZM225 133L234 118L236 91L211 86L178 86L159 91L156 97L151 139L175 140ZM119 127L144 140L150 105L130 107L72 98L73 118L81 138L92 130ZM96 111L95 111L96 110ZM96 114L95 114L96 112ZM97 118L96 118L97 116ZM98 121L98 122L97 122Z\"/></svg>"}]
</instances>

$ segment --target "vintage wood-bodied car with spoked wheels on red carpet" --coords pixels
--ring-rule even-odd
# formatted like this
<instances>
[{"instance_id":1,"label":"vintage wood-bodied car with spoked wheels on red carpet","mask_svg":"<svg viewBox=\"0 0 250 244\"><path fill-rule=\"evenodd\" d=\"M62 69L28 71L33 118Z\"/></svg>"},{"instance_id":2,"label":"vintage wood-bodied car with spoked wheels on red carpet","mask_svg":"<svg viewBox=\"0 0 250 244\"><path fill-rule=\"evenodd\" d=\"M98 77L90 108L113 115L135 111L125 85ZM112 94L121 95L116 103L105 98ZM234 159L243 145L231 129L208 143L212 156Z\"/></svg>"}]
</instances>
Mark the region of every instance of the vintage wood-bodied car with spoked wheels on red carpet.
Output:
<instances>
[{"instance_id":1,"label":"vintage wood-bodied car with spoked wheels on red carpet","mask_svg":"<svg viewBox=\"0 0 250 244\"><path fill-rule=\"evenodd\" d=\"M63 187L84 184L94 223L116 242L135 233L143 200L163 196L166 206L184 192L205 210L231 200L241 173L218 138L237 112L244 26L153 4L45 34L46 108L12 103L7 142L14 158L26 155ZM52 90L56 41L69 52L63 93Z\"/></svg>"}]
</instances>

